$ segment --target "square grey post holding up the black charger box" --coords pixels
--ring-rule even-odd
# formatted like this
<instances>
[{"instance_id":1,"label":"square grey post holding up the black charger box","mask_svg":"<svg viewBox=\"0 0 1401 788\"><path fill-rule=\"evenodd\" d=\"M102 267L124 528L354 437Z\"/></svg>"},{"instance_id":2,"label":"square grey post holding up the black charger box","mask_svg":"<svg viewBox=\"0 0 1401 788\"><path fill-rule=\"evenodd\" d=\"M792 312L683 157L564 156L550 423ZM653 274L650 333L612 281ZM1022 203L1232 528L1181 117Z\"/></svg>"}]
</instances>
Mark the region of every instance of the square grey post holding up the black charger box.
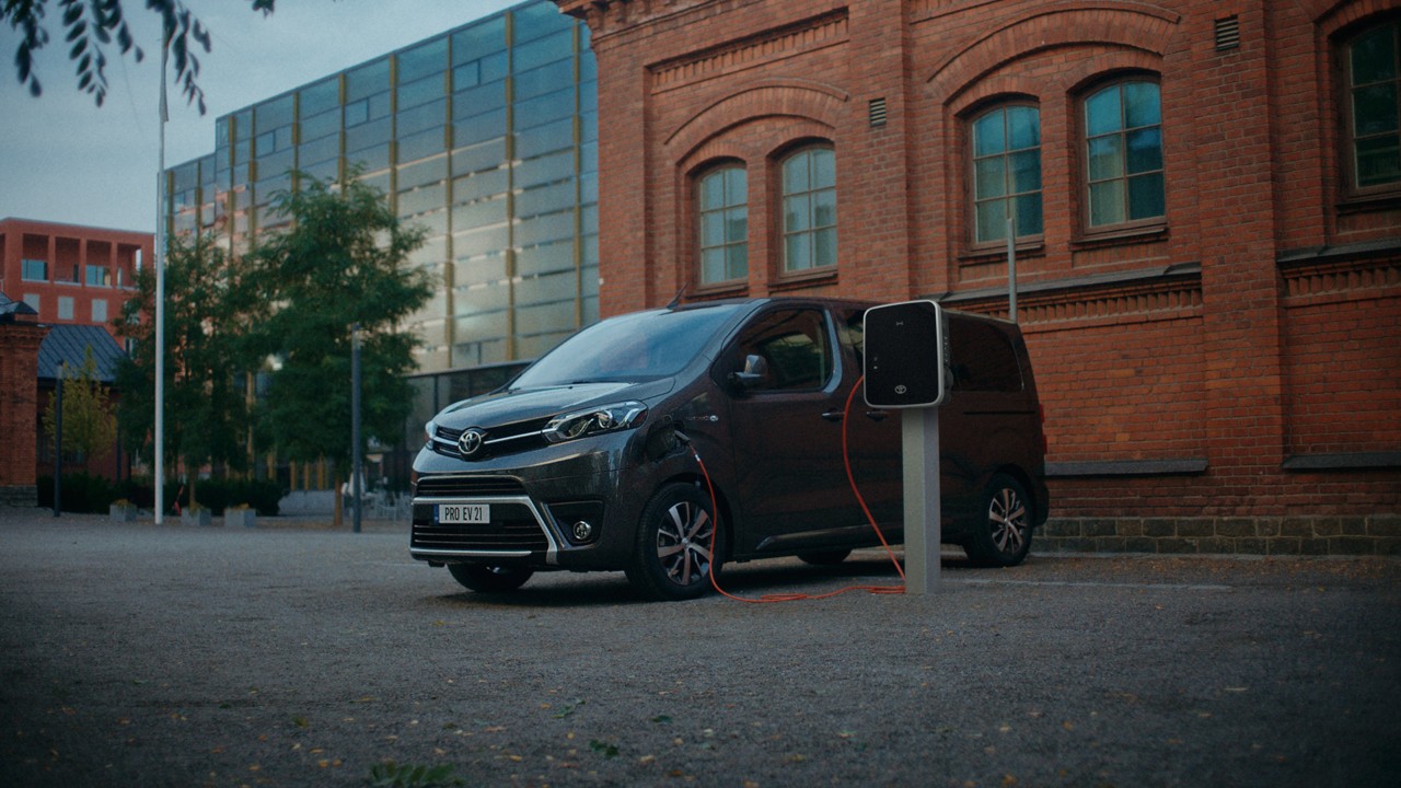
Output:
<instances>
[{"instance_id":1,"label":"square grey post holding up the black charger box","mask_svg":"<svg viewBox=\"0 0 1401 788\"><path fill-rule=\"evenodd\" d=\"M939 408L901 412L905 485L905 593L939 590Z\"/></svg>"}]
</instances>

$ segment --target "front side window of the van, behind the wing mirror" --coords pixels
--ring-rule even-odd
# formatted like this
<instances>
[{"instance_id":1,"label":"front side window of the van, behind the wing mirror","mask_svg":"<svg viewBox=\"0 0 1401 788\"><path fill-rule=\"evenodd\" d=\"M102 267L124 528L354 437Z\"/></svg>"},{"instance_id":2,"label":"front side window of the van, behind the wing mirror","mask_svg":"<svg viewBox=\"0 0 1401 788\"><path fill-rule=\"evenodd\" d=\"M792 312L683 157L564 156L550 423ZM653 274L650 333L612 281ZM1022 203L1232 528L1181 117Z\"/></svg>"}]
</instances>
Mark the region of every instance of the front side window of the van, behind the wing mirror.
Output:
<instances>
[{"instance_id":1,"label":"front side window of the van, behind the wing mirror","mask_svg":"<svg viewBox=\"0 0 1401 788\"><path fill-rule=\"evenodd\" d=\"M832 348L822 313L779 310L759 317L740 335L740 358L758 359L764 374L754 391L810 391L832 377Z\"/></svg>"}]
</instances>

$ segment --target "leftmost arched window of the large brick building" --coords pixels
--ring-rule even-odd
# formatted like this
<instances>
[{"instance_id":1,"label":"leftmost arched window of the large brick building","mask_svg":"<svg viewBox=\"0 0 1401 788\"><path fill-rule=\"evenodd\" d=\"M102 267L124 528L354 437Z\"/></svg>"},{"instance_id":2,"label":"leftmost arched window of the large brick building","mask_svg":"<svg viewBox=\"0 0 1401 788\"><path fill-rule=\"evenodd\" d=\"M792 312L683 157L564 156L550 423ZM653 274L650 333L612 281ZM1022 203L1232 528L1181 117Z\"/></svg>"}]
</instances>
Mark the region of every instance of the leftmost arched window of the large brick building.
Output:
<instances>
[{"instance_id":1,"label":"leftmost arched window of the large brick building","mask_svg":"<svg viewBox=\"0 0 1401 788\"><path fill-rule=\"evenodd\" d=\"M700 285L734 282L750 275L748 188L743 164L722 164L696 178Z\"/></svg>"}]
</instances>

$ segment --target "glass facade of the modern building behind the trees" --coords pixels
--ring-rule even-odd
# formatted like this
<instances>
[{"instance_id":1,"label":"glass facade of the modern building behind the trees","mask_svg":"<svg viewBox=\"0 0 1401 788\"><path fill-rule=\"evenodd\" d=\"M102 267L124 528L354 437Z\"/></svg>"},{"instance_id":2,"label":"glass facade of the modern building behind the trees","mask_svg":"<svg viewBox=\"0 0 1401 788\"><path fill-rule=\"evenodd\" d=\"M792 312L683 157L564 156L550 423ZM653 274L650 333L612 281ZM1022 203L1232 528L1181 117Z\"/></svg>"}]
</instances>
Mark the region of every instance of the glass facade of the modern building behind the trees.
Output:
<instances>
[{"instance_id":1,"label":"glass facade of the modern building behind the trees","mask_svg":"<svg viewBox=\"0 0 1401 788\"><path fill-rule=\"evenodd\" d=\"M220 118L167 171L170 227L237 257L298 172L359 168L427 229L420 373L532 359L598 318L597 104L588 28L523 3Z\"/></svg>"}]
</instances>

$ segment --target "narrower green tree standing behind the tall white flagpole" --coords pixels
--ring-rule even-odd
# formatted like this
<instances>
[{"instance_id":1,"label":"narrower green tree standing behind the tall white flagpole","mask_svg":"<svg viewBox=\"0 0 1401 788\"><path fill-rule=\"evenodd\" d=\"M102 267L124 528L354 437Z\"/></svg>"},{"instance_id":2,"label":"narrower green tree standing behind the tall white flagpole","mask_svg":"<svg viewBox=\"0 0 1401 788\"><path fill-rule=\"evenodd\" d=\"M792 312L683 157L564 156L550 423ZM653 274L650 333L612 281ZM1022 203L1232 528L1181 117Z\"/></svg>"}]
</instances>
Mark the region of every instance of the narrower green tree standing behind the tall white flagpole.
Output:
<instances>
[{"instance_id":1,"label":"narrower green tree standing behind the tall white flagpole","mask_svg":"<svg viewBox=\"0 0 1401 788\"><path fill-rule=\"evenodd\" d=\"M199 468L247 466L247 376L242 332L247 321L235 300L234 269L212 236L171 238L165 254L165 451L179 458L191 480ZM143 268L137 293L113 324L134 339L116 372L123 440L154 460L156 429L156 273ZM161 503L164 505L164 503Z\"/></svg>"}]
</instances>

